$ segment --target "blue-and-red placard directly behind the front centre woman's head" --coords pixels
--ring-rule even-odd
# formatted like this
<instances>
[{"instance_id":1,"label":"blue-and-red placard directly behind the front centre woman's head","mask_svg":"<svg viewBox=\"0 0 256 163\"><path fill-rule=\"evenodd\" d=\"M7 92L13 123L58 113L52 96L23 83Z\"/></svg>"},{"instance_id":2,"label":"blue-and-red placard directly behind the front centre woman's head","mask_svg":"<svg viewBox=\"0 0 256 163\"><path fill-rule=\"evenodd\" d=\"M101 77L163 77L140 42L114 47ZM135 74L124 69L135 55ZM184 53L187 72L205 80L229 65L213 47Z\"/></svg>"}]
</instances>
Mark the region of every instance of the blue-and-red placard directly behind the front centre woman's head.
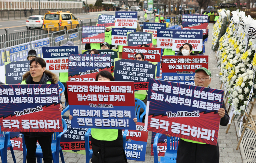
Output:
<instances>
[{"instance_id":1,"label":"blue-and-red placard directly behind the front centre woman's head","mask_svg":"<svg viewBox=\"0 0 256 163\"><path fill-rule=\"evenodd\" d=\"M68 62L68 81L95 81L98 72L111 72L111 54L70 54Z\"/></svg>"}]
</instances>

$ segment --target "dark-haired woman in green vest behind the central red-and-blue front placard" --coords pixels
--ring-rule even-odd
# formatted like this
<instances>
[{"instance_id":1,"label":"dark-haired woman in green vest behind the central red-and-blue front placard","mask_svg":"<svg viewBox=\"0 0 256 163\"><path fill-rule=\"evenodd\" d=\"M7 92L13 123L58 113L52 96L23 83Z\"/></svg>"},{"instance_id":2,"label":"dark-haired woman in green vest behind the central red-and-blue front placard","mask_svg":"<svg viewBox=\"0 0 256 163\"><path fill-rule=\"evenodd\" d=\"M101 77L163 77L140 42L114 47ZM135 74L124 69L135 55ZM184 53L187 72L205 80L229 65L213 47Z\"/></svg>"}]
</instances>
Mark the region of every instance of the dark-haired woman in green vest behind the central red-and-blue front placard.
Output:
<instances>
[{"instance_id":1,"label":"dark-haired woman in green vest behind the central red-and-blue front placard","mask_svg":"<svg viewBox=\"0 0 256 163\"><path fill-rule=\"evenodd\" d=\"M108 71L100 71L96 75L96 81L114 82L114 77ZM69 115L69 119L72 118L72 115ZM137 118L133 120L137 124ZM127 163L122 130L92 128L91 134L92 163Z\"/></svg>"}]
</instances>

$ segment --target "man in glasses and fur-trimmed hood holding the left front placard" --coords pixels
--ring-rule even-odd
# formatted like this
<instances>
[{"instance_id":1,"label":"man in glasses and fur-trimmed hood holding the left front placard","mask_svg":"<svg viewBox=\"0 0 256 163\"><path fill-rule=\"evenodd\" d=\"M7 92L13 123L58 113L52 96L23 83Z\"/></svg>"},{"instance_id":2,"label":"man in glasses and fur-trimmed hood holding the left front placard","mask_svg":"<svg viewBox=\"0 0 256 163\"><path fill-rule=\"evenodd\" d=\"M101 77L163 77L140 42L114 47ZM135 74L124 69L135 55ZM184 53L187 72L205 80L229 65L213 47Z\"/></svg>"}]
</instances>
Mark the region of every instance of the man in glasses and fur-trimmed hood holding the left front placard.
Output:
<instances>
[{"instance_id":1,"label":"man in glasses and fur-trimmed hood holding the left front placard","mask_svg":"<svg viewBox=\"0 0 256 163\"><path fill-rule=\"evenodd\" d=\"M33 58L30 63L30 69L22 76L20 84L56 84L58 77L51 71L46 70L46 63L42 58ZM31 86L33 88L33 86ZM40 105L40 104L38 104ZM62 104L60 112L62 112ZM37 119L35 117L35 119ZM61 122L60 122L61 123ZM36 143L38 141L42 148L45 163L52 163L52 134L53 132L21 132L24 135L24 140L27 147L26 160L27 163L36 162Z\"/></svg>"}]
</instances>

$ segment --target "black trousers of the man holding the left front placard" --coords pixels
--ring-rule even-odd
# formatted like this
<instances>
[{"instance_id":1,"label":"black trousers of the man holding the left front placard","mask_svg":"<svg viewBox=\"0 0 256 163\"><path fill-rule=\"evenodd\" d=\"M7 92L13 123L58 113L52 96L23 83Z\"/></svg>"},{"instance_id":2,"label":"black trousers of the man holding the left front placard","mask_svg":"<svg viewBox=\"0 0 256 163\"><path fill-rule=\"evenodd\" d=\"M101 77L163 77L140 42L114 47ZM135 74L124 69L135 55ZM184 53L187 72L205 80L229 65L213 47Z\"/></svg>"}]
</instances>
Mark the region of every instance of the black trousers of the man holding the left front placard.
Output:
<instances>
[{"instance_id":1,"label":"black trousers of the man holding the left front placard","mask_svg":"<svg viewBox=\"0 0 256 163\"><path fill-rule=\"evenodd\" d=\"M25 144L27 147L27 163L36 163L36 142L38 141L39 145L42 148L44 163L52 163L52 135L49 136L40 136L32 137L24 136Z\"/></svg>"}]
</instances>

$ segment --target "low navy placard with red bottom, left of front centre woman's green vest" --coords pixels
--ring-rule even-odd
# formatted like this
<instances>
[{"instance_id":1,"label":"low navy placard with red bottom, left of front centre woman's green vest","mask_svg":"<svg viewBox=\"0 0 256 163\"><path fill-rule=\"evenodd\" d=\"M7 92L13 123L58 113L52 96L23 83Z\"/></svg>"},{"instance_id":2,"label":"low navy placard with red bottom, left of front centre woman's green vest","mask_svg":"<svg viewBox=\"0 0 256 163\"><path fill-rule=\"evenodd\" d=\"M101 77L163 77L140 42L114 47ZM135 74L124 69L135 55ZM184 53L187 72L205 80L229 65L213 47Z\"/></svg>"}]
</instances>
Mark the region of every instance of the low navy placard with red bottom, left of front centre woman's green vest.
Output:
<instances>
[{"instance_id":1,"label":"low navy placard with red bottom, left of front centre woman's green vest","mask_svg":"<svg viewBox=\"0 0 256 163\"><path fill-rule=\"evenodd\" d=\"M62 118L67 123L67 131L60 138L62 150L85 155L84 134L88 131L88 128L71 128L71 121L68 116L62 116ZM91 141L89 143L90 149L92 149Z\"/></svg>"}]
</instances>

